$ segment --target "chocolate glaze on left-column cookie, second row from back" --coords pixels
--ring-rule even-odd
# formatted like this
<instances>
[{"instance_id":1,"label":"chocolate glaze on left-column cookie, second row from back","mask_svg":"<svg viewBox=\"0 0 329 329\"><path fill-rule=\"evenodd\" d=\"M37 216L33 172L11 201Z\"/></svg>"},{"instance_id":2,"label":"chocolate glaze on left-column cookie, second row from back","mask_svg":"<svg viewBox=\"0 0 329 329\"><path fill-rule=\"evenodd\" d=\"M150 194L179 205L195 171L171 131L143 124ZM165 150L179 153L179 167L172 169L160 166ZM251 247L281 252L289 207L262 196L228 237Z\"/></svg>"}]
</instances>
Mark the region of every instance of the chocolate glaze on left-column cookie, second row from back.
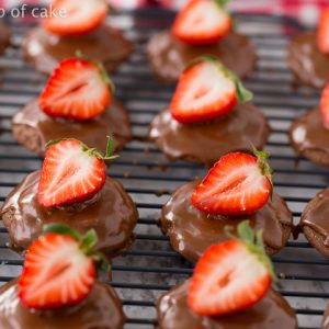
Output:
<instances>
[{"instance_id":1,"label":"chocolate glaze on left-column cookie, second row from back","mask_svg":"<svg viewBox=\"0 0 329 329\"><path fill-rule=\"evenodd\" d=\"M36 150L38 154L44 154L47 141L58 138L77 138L101 151L106 148L109 135L114 137L115 151L121 150L132 139L128 114L114 99L101 115L86 122L52 117L39 109L37 100L33 100L15 114L12 123L13 127L26 125L35 129L41 144L39 149ZM18 134L15 138L24 144L24 139L20 140L21 136Z\"/></svg>"}]
</instances>

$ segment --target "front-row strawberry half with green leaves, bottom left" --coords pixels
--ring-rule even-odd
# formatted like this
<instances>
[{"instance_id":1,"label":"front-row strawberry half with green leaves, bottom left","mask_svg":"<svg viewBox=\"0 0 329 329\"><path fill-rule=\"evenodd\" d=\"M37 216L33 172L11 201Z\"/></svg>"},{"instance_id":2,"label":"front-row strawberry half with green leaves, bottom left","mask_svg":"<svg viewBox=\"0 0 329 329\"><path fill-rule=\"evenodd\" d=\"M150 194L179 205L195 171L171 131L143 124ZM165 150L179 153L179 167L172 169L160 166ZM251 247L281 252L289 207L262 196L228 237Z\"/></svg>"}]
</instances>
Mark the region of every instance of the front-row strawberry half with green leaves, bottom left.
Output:
<instances>
[{"instance_id":1,"label":"front-row strawberry half with green leaves, bottom left","mask_svg":"<svg viewBox=\"0 0 329 329\"><path fill-rule=\"evenodd\" d=\"M81 237L63 225L50 225L29 248L19 280L21 302L32 309L46 310L76 305L90 293L97 263L105 264L93 250L94 230Z\"/></svg>"}]
</instances>

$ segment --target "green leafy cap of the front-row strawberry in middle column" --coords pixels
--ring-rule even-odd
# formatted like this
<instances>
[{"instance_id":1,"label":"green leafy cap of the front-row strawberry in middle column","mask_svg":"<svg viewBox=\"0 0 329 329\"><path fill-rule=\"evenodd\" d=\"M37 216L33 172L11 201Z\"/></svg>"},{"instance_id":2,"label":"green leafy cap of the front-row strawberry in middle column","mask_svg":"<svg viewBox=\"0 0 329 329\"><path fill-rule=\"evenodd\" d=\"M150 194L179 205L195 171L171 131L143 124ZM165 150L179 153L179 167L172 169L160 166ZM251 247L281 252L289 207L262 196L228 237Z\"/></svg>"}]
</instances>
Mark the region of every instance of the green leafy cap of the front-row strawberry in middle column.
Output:
<instances>
[{"instance_id":1,"label":"green leafy cap of the front-row strawberry in middle column","mask_svg":"<svg viewBox=\"0 0 329 329\"><path fill-rule=\"evenodd\" d=\"M254 230L250 227L249 220L241 222L237 227L237 236L231 234L232 227L226 226L225 231L229 238L239 239L243 241L249 251L268 269L272 280L277 281L274 273L273 264L271 259L265 252L263 242L263 230Z\"/></svg>"}]
</instances>

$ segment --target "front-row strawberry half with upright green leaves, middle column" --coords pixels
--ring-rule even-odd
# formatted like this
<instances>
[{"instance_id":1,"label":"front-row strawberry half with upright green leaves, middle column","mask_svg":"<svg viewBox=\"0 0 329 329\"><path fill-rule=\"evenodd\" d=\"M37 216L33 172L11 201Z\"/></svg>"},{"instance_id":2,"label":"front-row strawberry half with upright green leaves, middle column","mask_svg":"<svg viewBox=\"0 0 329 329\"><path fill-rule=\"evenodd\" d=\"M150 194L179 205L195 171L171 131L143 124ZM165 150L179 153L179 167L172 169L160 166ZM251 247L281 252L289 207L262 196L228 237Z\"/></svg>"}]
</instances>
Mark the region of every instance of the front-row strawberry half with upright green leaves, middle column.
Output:
<instances>
[{"instance_id":1,"label":"front-row strawberry half with upright green leaves, middle column","mask_svg":"<svg viewBox=\"0 0 329 329\"><path fill-rule=\"evenodd\" d=\"M238 231L239 239L209 247L194 269L188 305L201 316L246 309L264 297L275 279L261 231L254 237L248 220Z\"/></svg>"}]
</instances>

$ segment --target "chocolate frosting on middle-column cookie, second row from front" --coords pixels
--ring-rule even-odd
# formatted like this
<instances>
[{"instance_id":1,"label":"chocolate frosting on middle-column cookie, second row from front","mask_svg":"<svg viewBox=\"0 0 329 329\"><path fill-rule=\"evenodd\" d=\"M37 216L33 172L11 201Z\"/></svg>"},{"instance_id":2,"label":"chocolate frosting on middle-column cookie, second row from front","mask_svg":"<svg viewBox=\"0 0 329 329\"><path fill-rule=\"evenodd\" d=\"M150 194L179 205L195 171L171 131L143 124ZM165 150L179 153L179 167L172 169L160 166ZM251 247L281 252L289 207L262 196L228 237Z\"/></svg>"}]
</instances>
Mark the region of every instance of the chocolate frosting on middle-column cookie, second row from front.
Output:
<instances>
[{"instance_id":1,"label":"chocolate frosting on middle-column cookie, second row from front","mask_svg":"<svg viewBox=\"0 0 329 329\"><path fill-rule=\"evenodd\" d=\"M175 251L196 262L214 243L227 240L225 226L236 227L249 219L253 229L263 229L268 253L279 251L288 239L293 224L286 203L273 193L272 200L256 214L242 217L212 216L198 211L191 196L201 180L179 188L162 208L161 228L170 238Z\"/></svg>"}]
</instances>

